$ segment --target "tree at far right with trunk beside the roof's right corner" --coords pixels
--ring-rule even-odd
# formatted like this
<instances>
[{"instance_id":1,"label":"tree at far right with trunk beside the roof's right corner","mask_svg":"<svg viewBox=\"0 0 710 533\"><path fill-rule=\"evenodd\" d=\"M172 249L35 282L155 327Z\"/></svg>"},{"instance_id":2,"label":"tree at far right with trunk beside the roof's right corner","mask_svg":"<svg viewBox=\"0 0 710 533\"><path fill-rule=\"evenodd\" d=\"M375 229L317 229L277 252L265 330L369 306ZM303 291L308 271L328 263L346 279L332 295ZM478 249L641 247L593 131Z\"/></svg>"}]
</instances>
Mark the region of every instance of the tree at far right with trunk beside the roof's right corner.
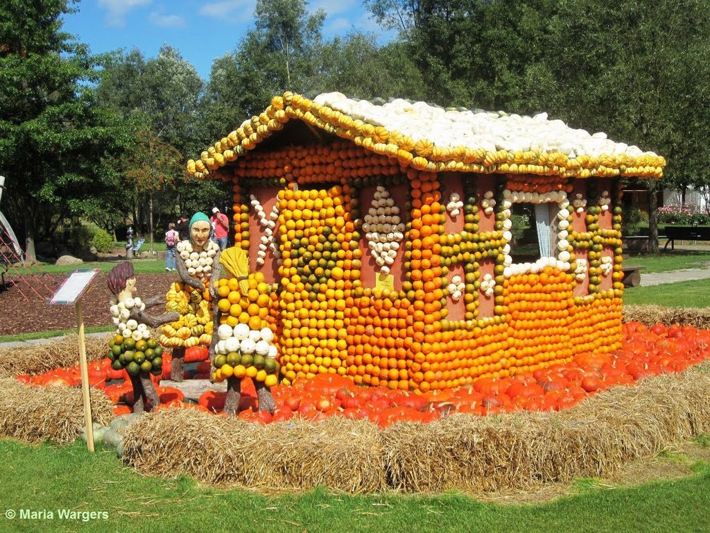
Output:
<instances>
[{"instance_id":1,"label":"tree at far right with trunk beside the roof's right corner","mask_svg":"<svg viewBox=\"0 0 710 533\"><path fill-rule=\"evenodd\" d=\"M667 159L663 180L646 183L657 251L657 191L708 183L706 2L568 1L552 20L547 45L545 68L564 87L550 102L560 117Z\"/></svg>"}]
</instances>

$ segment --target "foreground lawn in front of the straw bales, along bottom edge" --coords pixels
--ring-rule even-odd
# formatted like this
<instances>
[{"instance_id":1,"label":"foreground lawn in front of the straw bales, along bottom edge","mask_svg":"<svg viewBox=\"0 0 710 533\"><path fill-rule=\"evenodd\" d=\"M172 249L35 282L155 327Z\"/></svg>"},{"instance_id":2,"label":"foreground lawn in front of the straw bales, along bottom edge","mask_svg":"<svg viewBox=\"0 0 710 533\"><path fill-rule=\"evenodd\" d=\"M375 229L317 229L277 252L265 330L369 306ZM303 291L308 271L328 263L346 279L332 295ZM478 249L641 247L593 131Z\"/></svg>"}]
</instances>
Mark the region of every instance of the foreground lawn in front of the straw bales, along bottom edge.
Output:
<instances>
[{"instance_id":1,"label":"foreground lawn in front of the straw bales, along bottom edge","mask_svg":"<svg viewBox=\"0 0 710 533\"><path fill-rule=\"evenodd\" d=\"M148 478L104 448L0 441L0 530L57 532L692 532L710 529L710 466L679 480L616 488L580 480L577 493L540 505L499 505L466 495L350 496L313 490L261 495ZM5 510L53 510L55 519L9 520ZM57 510L106 519L57 519ZM206 528L206 524L209 527Z\"/></svg>"}]
</instances>

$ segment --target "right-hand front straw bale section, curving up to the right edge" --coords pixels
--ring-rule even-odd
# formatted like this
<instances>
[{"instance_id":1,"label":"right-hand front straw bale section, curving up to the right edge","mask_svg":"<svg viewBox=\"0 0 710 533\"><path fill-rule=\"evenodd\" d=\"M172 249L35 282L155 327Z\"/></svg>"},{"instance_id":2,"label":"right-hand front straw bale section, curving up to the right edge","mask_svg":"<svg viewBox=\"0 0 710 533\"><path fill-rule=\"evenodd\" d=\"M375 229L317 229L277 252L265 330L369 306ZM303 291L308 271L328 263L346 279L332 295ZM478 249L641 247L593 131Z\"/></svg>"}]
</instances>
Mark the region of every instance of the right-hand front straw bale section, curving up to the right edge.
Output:
<instances>
[{"instance_id":1,"label":"right-hand front straw bale section, curving up to the right edge","mask_svg":"<svg viewBox=\"0 0 710 533\"><path fill-rule=\"evenodd\" d=\"M475 417L384 430L386 470L407 492L530 488L608 476L710 431L710 366L615 387L554 414Z\"/></svg>"}]
</instances>

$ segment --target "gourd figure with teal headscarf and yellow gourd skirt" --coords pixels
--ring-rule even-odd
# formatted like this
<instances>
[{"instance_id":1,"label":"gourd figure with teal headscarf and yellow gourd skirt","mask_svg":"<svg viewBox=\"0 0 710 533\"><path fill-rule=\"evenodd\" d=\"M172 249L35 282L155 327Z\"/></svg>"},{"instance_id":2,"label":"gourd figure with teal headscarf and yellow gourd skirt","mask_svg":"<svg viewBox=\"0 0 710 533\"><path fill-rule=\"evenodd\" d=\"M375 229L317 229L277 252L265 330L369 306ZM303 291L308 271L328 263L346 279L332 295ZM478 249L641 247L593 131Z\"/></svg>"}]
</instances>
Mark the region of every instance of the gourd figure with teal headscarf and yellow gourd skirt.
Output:
<instances>
[{"instance_id":1,"label":"gourd figure with teal headscarf and yellow gourd skirt","mask_svg":"<svg viewBox=\"0 0 710 533\"><path fill-rule=\"evenodd\" d=\"M178 316L163 325L160 335L160 345L173 350L170 379L175 382L183 379L185 350L196 346L206 349L212 343L209 280L219 277L219 245L209 239L211 229L209 217L197 212L190 219L190 239L175 246L180 281L170 286L165 311L176 311Z\"/></svg>"}]
</instances>

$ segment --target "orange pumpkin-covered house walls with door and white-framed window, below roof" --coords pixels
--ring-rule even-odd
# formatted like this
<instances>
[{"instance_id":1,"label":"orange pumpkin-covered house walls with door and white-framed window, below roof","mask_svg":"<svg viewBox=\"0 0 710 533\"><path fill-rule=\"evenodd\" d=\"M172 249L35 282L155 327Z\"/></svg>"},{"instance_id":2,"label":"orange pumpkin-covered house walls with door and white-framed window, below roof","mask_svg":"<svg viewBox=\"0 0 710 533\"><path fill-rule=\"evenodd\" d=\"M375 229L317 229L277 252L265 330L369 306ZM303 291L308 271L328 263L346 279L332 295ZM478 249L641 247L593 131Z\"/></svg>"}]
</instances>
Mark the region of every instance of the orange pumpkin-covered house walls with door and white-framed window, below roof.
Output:
<instances>
[{"instance_id":1,"label":"orange pumpkin-covered house walls with door and white-framed window, below roof","mask_svg":"<svg viewBox=\"0 0 710 533\"><path fill-rule=\"evenodd\" d=\"M403 170L344 141L258 149L229 178L285 382L426 391L621 346L611 180ZM511 261L515 202L550 212L550 257Z\"/></svg>"}]
</instances>

